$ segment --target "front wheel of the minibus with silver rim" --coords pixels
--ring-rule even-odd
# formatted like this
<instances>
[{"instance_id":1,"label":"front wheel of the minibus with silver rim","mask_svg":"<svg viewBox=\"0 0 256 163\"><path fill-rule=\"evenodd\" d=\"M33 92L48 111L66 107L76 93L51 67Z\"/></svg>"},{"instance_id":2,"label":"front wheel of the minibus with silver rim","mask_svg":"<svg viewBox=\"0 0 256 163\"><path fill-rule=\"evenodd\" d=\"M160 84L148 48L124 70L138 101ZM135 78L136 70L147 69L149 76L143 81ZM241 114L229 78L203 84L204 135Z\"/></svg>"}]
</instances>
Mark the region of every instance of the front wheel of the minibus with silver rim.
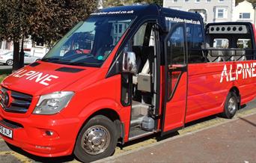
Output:
<instances>
[{"instance_id":1,"label":"front wheel of the minibus with silver rim","mask_svg":"<svg viewBox=\"0 0 256 163\"><path fill-rule=\"evenodd\" d=\"M82 162L93 162L111 156L118 143L115 123L97 115L83 126L76 139L74 154Z\"/></svg>"}]
</instances>

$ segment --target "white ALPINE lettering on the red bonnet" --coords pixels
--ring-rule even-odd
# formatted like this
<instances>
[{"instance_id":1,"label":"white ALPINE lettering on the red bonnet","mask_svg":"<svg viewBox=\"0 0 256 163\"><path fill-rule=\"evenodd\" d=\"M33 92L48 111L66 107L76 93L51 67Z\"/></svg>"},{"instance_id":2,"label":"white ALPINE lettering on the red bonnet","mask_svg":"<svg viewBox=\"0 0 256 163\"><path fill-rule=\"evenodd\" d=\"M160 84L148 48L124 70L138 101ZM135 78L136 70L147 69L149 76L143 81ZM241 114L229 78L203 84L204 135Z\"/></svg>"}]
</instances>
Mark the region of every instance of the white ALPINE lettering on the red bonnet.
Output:
<instances>
[{"instance_id":1,"label":"white ALPINE lettering on the red bonnet","mask_svg":"<svg viewBox=\"0 0 256 163\"><path fill-rule=\"evenodd\" d=\"M11 74L15 78L25 78L26 80L33 81L39 84L48 86L52 82L52 79L58 79L58 76L52 76L46 73L40 73L36 71L19 70Z\"/></svg>"}]
</instances>

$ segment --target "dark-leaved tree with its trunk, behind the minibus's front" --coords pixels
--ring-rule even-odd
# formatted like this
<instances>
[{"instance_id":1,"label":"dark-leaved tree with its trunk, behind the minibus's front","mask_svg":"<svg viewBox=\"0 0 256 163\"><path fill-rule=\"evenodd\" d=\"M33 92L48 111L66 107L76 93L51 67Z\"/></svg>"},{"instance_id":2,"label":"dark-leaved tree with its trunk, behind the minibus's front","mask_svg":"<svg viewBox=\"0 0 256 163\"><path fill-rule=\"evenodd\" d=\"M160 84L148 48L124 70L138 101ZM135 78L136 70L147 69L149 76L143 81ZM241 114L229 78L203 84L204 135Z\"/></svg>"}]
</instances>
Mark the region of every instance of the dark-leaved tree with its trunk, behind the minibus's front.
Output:
<instances>
[{"instance_id":1,"label":"dark-leaved tree with its trunk, behind the minibus's front","mask_svg":"<svg viewBox=\"0 0 256 163\"><path fill-rule=\"evenodd\" d=\"M95 0L0 0L0 39L13 40L13 70L24 61L19 40L31 36L55 42L89 16L97 4Z\"/></svg>"}]
</instances>

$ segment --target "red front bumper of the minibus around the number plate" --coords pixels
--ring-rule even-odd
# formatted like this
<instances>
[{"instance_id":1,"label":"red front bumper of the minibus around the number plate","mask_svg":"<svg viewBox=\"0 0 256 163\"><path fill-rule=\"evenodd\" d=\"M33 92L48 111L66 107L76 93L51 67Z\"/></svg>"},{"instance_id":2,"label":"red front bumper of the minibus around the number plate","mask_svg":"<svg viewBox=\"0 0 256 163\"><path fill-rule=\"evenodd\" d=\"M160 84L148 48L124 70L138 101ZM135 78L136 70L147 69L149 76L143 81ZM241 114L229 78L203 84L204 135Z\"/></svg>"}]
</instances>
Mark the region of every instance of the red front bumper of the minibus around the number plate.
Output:
<instances>
[{"instance_id":1,"label":"red front bumper of the minibus around the number plate","mask_svg":"<svg viewBox=\"0 0 256 163\"><path fill-rule=\"evenodd\" d=\"M11 125L7 125L10 123ZM59 114L29 117L7 117L0 106L0 124L13 130L13 138L2 136L4 141L42 157L68 156L73 153L79 120L64 119ZM14 126L14 127L12 127ZM13 128L13 129L12 129ZM52 135L46 135L46 131Z\"/></svg>"}]
</instances>

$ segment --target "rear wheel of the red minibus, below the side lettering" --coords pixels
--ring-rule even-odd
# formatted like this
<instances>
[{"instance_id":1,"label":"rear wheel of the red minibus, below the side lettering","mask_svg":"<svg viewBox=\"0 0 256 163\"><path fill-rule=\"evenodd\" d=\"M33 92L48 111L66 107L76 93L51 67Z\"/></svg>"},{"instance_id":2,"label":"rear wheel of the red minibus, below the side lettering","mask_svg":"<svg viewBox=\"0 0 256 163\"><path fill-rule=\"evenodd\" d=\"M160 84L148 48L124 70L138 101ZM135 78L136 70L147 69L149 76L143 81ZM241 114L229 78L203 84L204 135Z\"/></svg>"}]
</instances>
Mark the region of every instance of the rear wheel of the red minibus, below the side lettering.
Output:
<instances>
[{"instance_id":1,"label":"rear wheel of the red minibus, below the side lettering","mask_svg":"<svg viewBox=\"0 0 256 163\"><path fill-rule=\"evenodd\" d=\"M237 113L238 110L238 97L236 93L228 93L227 99L225 101L224 111L222 112L222 117L231 119Z\"/></svg>"}]
</instances>

